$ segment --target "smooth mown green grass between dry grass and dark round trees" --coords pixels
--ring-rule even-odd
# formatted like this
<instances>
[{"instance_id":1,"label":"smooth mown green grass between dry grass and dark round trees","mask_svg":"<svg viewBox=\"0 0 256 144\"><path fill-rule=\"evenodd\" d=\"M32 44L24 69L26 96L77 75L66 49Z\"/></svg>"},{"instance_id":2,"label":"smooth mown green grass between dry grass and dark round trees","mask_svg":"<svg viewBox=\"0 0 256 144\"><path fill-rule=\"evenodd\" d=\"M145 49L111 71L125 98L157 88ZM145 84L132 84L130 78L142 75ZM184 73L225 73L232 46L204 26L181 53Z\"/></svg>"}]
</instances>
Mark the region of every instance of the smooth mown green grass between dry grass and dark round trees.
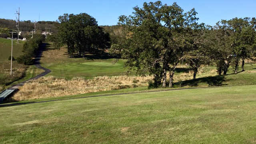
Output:
<instances>
[{"instance_id":1,"label":"smooth mown green grass between dry grass and dark round trees","mask_svg":"<svg viewBox=\"0 0 256 144\"><path fill-rule=\"evenodd\" d=\"M85 60L82 58L71 59L67 62L44 64L42 66L52 70L48 76L64 78L95 76L119 76L125 74L124 60L113 63L114 59Z\"/></svg>"}]
</instances>

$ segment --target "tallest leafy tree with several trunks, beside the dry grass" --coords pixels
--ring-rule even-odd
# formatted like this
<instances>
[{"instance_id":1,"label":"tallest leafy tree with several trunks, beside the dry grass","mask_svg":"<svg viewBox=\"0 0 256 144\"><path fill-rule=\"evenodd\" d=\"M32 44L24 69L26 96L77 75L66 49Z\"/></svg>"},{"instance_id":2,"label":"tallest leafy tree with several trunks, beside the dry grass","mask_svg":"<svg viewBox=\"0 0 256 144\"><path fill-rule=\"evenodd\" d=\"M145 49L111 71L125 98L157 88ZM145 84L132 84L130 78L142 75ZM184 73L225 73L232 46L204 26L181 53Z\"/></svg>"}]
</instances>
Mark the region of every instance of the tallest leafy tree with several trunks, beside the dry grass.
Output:
<instances>
[{"instance_id":1,"label":"tallest leafy tree with several trunks, beside the dry grass","mask_svg":"<svg viewBox=\"0 0 256 144\"><path fill-rule=\"evenodd\" d=\"M126 32L111 52L127 59L126 66L139 74L152 74L154 86L166 87L166 73L170 71L172 87L175 69L191 48L192 25L196 24L194 9L184 13L176 3L168 6L160 1L134 7L132 16L120 16Z\"/></svg>"}]
</instances>

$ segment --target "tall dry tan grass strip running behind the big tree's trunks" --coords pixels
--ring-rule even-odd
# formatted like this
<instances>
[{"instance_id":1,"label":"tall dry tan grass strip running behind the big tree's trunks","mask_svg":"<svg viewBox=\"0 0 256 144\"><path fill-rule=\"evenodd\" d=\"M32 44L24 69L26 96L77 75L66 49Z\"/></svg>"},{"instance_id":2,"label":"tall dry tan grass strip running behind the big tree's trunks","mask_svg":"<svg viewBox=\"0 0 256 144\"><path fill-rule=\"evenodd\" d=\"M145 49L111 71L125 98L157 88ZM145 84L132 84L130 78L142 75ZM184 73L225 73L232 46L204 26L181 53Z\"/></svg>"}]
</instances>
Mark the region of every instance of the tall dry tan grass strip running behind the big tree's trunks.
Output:
<instances>
[{"instance_id":1,"label":"tall dry tan grass strip running behind the big tree's trunks","mask_svg":"<svg viewBox=\"0 0 256 144\"><path fill-rule=\"evenodd\" d=\"M207 72L207 74L203 70L199 70L198 78L215 74L215 70ZM176 73L174 76L174 82L190 80L193 78L193 72ZM148 86L148 81L152 78L152 76L99 76L89 80L80 77L66 80L52 76L42 77L26 83L12 99L20 101Z\"/></svg>"}]
</instances>

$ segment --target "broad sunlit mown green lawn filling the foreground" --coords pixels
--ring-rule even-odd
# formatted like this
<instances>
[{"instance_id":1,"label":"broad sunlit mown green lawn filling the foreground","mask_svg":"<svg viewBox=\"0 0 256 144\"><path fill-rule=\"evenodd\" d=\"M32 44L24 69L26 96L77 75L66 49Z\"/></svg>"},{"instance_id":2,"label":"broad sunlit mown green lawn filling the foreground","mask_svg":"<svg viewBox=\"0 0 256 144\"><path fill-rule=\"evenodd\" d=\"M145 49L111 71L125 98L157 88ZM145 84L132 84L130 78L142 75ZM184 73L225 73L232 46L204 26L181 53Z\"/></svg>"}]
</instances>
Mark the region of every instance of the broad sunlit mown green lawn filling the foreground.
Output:
<instances>
[{"instance_id":1,"label":"broad sunlit mown green lawn filling the foreground","mask_svg":"<svg viewBox=\"0 0 256 144\"><path fill-rule=\"evenodd\" d=\"M256 142L256 86L147 92L0 108L0 143Z\"/></svg>"}]
</instances>

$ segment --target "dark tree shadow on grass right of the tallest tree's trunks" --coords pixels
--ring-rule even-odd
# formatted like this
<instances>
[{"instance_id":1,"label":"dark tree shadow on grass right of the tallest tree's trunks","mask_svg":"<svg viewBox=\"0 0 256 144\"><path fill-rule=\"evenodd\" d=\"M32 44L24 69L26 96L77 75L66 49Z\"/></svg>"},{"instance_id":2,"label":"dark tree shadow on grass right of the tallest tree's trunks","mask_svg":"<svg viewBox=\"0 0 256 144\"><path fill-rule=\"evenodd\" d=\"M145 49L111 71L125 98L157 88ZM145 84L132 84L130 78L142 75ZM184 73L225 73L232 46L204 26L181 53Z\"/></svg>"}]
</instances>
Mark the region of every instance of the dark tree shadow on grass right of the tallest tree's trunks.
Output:
<instances>
[{"instance_id":1,"label":"dark tree shadow on grass right of the tallest tree's trunks","mask_svg":"<svg viewBox=\"0 0 256 144\"><path fill-rule=\"evenodd\" d=\"M199 83L206 83L208 86L225 86L223 82L227 82L225 76L210 76L206 78L197 78L195 80L185 80L182 82L174 83L174 87L183 87L183 86L198 86Z\"/></svg>"}]
</instances>

